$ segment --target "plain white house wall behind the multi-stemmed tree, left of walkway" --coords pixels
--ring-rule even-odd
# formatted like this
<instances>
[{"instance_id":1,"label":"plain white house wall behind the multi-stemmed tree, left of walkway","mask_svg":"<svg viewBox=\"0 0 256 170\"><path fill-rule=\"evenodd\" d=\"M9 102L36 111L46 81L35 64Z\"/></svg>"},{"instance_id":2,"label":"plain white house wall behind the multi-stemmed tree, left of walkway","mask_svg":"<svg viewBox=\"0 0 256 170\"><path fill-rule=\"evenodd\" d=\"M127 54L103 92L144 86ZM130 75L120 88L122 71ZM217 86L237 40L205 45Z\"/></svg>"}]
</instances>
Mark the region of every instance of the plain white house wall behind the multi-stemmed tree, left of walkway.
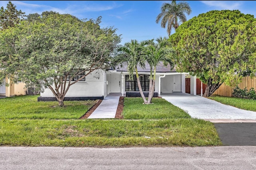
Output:
<instances>
[{"instance_id":1,"label":"plain white house wall behind the multi-stemmed tree, left of walkway","mask_svg":"<svg viewBox=\"0 0 256 170\"><path fill-rule=\"evenodd\" d=\"M94 97L104 96L105 74L103 70L97 70L86 76L86 81L76 82L70 86L65 97ZM47 88L41 97L54 97L52 91Z\"/></svg>"}]
</instances>

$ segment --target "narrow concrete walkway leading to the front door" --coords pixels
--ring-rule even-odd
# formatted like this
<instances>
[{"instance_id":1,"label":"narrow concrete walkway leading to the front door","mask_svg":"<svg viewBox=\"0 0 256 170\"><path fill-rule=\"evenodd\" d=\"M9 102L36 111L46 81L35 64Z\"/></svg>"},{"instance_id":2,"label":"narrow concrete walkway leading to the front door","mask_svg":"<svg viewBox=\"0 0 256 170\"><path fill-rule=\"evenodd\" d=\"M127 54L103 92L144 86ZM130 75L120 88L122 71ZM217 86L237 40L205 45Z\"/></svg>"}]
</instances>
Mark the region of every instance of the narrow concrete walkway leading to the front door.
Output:
<instances>
[{"instance_id":1,"label":"narrow concrete walkway leading to the front door","mask_svg":"<svg viewBox=\"0 0 256 170\"><path fill-rule=\"evenodd\" d=\"M87 119L115 118L120 94L109 94Z\"/></svg>"}]
</instances>

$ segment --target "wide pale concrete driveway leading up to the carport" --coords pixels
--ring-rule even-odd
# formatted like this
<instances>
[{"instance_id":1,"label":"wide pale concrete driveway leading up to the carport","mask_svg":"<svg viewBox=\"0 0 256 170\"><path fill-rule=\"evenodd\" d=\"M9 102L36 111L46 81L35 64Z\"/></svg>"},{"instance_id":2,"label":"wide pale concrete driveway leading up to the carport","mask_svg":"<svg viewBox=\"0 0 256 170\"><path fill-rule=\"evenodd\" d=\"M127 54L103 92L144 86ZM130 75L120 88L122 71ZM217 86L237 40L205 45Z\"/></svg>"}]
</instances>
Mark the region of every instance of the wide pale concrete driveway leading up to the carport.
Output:
<instances>
[{"instance_id":1,"label":"wide pale concrete driveway leading up to the carport","mask_svg":"<svg viewBox=\"0 0 256 170\"><path fill-rule=\"evenodd\" d=\"M218 122L220 122L220 119L244 119L246 122L256 122L255 111L238 109L236 107L224 105L201 96L194 96L186 93L161 96L174 106L178 106L187 111L188 114L193 118L206 120L218 119ZM248 121L248 119L251 119L251 121Z\"/></svg>"}]
</instances>

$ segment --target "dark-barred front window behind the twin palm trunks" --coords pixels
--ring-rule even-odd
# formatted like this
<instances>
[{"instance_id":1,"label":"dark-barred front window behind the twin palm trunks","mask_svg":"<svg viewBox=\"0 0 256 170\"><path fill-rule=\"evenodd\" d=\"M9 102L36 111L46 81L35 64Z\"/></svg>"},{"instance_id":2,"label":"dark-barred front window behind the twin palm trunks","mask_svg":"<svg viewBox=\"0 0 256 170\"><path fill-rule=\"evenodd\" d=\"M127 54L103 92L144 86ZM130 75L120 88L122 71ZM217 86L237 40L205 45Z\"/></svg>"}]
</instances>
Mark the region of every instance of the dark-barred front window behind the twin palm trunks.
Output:
<instances>
[{"instance_id":1,"label":"dark-barred front window behind the twin palm trunks","mask_svg":"<svg viewBox=\"0 0 256 170\"><path fill-rule=\"evenodd\" d=\"M140 84L142 91L149 91L149 76L148 74L139 74ZM138 82L136 75L133 75L133 80L129 80L129 75L125 75L125 91L127 92L138 92Z\"/></svg>"}]
</instances>

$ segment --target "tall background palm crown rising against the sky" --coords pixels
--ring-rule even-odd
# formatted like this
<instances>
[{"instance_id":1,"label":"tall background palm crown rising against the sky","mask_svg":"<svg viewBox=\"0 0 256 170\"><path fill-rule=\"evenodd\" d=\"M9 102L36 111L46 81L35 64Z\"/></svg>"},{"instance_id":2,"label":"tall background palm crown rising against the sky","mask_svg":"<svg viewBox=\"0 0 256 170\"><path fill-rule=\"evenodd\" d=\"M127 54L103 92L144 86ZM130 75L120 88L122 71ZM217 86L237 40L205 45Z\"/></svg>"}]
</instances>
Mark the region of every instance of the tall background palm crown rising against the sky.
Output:
<instances>
[{"instance_id":1,"label":"tall background palm crown rising against the sky","mask_svg":"<svg viewBox=\"0 0 256 170\"><path fill-rule=\"evenodd\" d=\"M176 30L180 22L183 23L187 21L184 13L189 15L191 12L192 10L187 2L179 2L176 4L176 0L173 0L171 4L164 3L162 5L161 13L156 17L156 23L162 19L161 27L165 28L167 26L167 33L168 36L170 36L172 28Z\"/></svg>"}]
</instances>

